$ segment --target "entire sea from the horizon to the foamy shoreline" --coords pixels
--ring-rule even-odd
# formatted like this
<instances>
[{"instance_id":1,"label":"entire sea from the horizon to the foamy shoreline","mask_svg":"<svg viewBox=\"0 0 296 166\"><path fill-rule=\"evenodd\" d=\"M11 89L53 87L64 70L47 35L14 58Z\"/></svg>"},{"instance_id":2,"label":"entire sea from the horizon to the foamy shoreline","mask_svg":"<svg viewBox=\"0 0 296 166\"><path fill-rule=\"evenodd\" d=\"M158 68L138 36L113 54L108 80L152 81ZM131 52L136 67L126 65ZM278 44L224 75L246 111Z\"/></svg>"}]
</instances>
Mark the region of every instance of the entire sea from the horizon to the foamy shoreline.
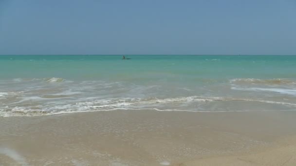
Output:
<instances>
[{"instance_id":1,"label":"entire sea from the horizon to the foamy shoreline","mask_svg":"<svg viewBox=\"0 0 296 166\"><path fill-rule=\"evenodd\" d=\"M296 110L296 56L128 57L2 55L0 116Z\"/></svg>"}]
</instances>

